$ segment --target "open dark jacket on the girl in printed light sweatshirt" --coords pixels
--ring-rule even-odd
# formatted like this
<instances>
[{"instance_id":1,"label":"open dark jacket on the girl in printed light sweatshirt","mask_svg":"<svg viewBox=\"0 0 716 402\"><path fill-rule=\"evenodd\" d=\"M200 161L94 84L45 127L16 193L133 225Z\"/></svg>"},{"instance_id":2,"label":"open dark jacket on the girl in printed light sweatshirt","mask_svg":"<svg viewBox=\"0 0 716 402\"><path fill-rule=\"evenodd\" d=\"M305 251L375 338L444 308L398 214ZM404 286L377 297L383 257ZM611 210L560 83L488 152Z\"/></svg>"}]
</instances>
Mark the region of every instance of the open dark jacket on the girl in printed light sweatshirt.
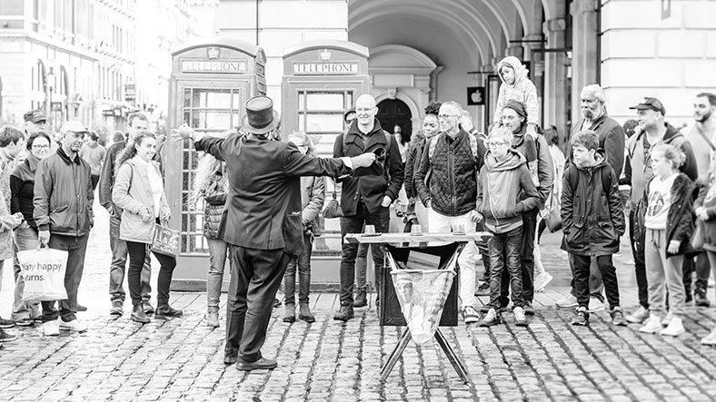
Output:
<instances>
[{"instance_id":1,"label":"open dark jacket on the girl in printed light sweatshirt","mask_svg":"<svg viewBox=\"0 0 716 402\"><path fill-rule=\"evenodd\" d=\"M634 212L638 219L634 220L634 239L645 239L644 212L649 208L649 186L654 177L646 183L646 190L641 195L641 201ZM679 251L675 253L666 251L666 258L675 255L693 255L698 251L691 248L691 235L693 234L693 201L698 198L699 189L689 176L679 173L671 184L671 207L666 214L666 243L671 240L681 241ZM646 238L646 241L649 241ZM641 245L643 247L643 245Z\"/></svg>"}]
</instances>

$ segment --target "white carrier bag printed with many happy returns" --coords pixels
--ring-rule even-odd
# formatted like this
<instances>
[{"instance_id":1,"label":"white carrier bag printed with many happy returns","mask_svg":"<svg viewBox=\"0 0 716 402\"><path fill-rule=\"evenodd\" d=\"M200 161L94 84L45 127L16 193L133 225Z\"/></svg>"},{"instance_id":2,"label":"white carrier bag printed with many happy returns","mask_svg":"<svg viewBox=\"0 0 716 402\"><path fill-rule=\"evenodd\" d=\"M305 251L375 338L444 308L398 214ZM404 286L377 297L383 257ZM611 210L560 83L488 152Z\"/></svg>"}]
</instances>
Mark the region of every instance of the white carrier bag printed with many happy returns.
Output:
<instances>
[{"instance_id":1,"label":"white carrier bag printed with many happy returns","mask_svg":"<svg viewBox=\"0 0 716 402\"><path fill-rule=\"evenodd\" d=\"M67 251L47 247L17 251L20 274L25 279L23 301L53 301L67 299L65 271Z\"/></svg>"}]
</instances>

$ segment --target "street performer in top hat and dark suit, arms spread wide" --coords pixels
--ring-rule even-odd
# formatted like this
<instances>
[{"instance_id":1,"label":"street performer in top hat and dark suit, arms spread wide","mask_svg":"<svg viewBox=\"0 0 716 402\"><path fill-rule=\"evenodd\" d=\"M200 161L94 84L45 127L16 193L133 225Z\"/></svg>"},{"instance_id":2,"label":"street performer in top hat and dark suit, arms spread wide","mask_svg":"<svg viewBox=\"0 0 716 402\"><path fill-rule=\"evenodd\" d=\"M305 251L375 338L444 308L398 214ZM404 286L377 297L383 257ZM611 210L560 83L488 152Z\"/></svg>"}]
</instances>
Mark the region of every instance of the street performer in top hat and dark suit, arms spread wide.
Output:
<instances>
[{"instance_id":1,"label":"street performer in top hat and dark suit, arms spread wide","mask_svg":"<svg viewBox=\"0 0 716 402\"><path fill-rule=\"evenodd\" d=\"M303 252L301 176L337 177L370 166L375 155L304 155L292 142L272 141L279 117L271 99L249 99L246 112L245 136L194 137L185 126L179 134L196 141L197 151L226 162L229 195L218 233L232 248L224 363L251 371L276 368L276 360L262 357L261 347L288 262Z\"/></svg>"}]
</instances>

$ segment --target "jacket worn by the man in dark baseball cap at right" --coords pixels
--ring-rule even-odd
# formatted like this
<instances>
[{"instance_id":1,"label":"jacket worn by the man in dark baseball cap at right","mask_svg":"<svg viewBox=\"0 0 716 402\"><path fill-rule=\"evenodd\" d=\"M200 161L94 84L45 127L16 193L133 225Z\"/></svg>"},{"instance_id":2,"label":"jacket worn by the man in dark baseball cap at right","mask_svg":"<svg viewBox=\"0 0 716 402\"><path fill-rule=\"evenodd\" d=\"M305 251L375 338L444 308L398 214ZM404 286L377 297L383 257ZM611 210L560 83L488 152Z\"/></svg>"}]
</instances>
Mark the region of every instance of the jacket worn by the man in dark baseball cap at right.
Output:
<instances>
[{"instance_id":1,"label":"jacket worn by the man in dark baseball cap at right","mask_svg":"<svg viewBox=\"0 0 716 402\"><path fill-rule=\"evenodd\" d=\"M696 167L696 158L693 156L691 142L686 141L683 134L671 124L665 123L665 125L666 133L664 133L664 138L661 142L679 148L686 155L686 160L681 165L680 170L691 181L695 181L699 177L699 172ZM645 150L645 147L648 146L646 141L646 132L641 132L639 135L632 135L627 144L629 163L626 164L624 174L626 179L631 182L631 203L633 205L636 205L641 200L644 190L647 188L647 181L650 181L654 176L654 172L651 172L650 152ZM652 143L648 150L651 150L654 145L656 144Z\"/></svg>"}]
</instances>

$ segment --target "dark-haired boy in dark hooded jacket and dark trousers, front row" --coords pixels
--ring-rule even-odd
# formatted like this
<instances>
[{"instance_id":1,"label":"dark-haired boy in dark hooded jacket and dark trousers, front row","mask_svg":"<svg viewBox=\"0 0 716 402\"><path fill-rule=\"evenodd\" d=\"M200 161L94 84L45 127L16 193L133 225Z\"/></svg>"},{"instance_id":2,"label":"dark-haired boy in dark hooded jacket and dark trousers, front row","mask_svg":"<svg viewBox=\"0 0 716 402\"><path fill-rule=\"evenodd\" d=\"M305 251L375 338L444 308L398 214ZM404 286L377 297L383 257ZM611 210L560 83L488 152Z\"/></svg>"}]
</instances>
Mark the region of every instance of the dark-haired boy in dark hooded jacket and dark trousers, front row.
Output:
<instances>
[{"instance_id":1,"label":"dark-haired boy in dark hooded jacket and dark trousers, front row","mask_svg":"<svg viewBox=\"0 0 716 402\"><path fill-rule=\"evenodd\" d=\"M603 170L607 170L606 174ZM624 211L617 175L606 153L599 149L596 132L583 130L572 137L572 162L563 180L562 225L566 249L574 259L572 276L578 303L572 325L589 324L589 276L594 256L612 309L612 324L625 326L612 263L612 254L619 251L619 239L625 230Z\"/></svg>"}]
</instances>

